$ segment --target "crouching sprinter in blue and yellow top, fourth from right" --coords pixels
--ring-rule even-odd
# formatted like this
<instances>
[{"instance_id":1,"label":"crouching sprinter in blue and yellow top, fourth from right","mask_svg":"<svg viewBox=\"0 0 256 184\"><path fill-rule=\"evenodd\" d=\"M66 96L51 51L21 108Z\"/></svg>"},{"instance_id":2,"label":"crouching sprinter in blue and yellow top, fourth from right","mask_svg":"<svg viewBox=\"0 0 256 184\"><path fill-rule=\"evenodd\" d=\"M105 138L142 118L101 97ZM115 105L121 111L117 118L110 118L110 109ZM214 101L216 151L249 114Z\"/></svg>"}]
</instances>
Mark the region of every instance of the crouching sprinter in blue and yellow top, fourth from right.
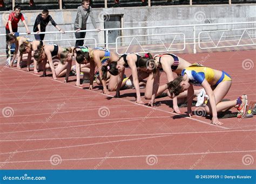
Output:
<instances>
[{"instance_id":1,"label":"crouching sprinter in blue and yellow top, fourth from right","mask_svg":"<svg viewBox=\"0 0 256 184\"><path fill-rule=\"evenodd\" d=\"M107 65L108 63L112 61L117 61L118 56L114 54L113 52L110 52L107 49L96 47L93 49L89 48L89 52L83 52L83 51L77 51L76 52L76 61L79 64L86 64L90 62L90 87L89 89L93 89L93 77L96 72L99 73L99 79L101 80L101 83L103 85L103 93L109 94L109 90L107 90L106 87L106 81L103 79L102 75L102 66ZM97 70L95 70L96 66ZM110 80L112 80L110 78ZM111 89L112 90L112 89Z\"/></svg>"}]
</instances>

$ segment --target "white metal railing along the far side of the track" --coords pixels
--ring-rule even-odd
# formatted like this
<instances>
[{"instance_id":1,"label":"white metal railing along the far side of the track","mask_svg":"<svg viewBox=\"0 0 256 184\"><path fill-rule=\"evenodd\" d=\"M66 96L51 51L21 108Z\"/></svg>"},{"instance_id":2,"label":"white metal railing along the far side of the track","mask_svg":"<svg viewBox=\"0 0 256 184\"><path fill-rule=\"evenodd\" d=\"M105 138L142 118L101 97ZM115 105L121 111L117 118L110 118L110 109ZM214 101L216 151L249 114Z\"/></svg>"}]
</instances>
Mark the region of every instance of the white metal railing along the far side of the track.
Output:
<instances>
[{"instance_id":1,"label":"white metal railing along the far side of the track","mask_svg":"<svg viewBox=\"0 0 256 184\"><path fill-rule=\"evenodd\" d=\"M171 34L182 34L184 35L184 38L179 38L179 39L176 39L176 40L181 40L180 43L177 43L178 45L193 45L193 53L197 53L197 44L200 45L199 48L200 49L205 49L204 47L201 46L201 44L203 44L204 42L200 41L201 39L203 38L208 38L208 37L201 37L201 34L203 33L207 33L207 32L227 32L227 31L236 31L236 30L255 30L254 27L255 26L256 22L238 22L238 23L214 23L214 24L191 24L191 25L172 25L172 26L147 26L147 27L126 27L126 28L114 28L114 29L101 29L101 30L82 30L82 31L79 31L79 32L96 32L96 33L99 33L99 32L104 32L104 35L105 35L105 39L104 39L104 43L98 43L97 40L95 38L85 38L85 40L87 39L92 39L95 41L95 43L93 45L95 46L105 46L107 49L115 49L117 51L117 53L119 53L118 51L118 44L120 45L125 45L125 44L130 44L129 41L121 41L121 42L118 42L118 39L119 38L135 38L135 37L143 37L143 36L151 36L151 37L154 37L154 36L169 36ZM221 29L221 30L209 30L209 31L202 31L203 28L204 30L206 29L209 29L209 27L211 26L228 26L228 28L226 29ZM242 29L234 29L234 26L235 25L246 25L245 28L242 28ZM250 25L250 26L248 26ZM109 32L110 31L122 31L124 32L125 30L128 31L128 30L133 30L133 32L135 30L150 30L150 29L153 29L153 30L157 30L157 29L181 29L182 27L187 27L189 29L184 29L184 32L187 31L187 30L192 30L190 32L191 36L193 34L192 37L185 37L185 33L183 32L179 32L179 33L173 33L174 31L170 31L170 33L164 33L164 34L136 34L136 35L125 35L125 33L123 33L124 35L122 35L122 37L118 37L116 39L116 42L115 43L109 43ZM65 31L65 34L68 34L68 33L75 33L76 31ZM197 32L199 32L197 34ZM41 32L39 34L63 34L64 32L58 32L58 31L50 31L50 32ZM37 33L31 33L31 34L37 34ZM2 36L5 36L6 34L0 34L0 37ZM23 36L23 35L26 35L26 33L20 33L19 35ZM250 34L251 36L255 36L256 34L255 33L251 33ZM239 37L240 36L240 40L241 40L241 33L240 34L237 34L237 35L231 35L231 36L226 36L226 38L228 37ZM252 40L255 39L255 38L251 38ZM62 40L77 40L77 39L62 39ZM238 39L239 40L239 39ZM50 40L46 40L46 41L50 41ZM51 41L60 41L60 40L51 40ZM147 41L147 40L144 40L144 42ZM152 40L151 40L152 41ZM159 39L158 39L159 41ZM213 40L210 39L205 41L205 43L212 43ZM163 40L160 40L161 44L165 45L164 41ZM129 45L128 44L128 45ZM173 43L169 43L171 45L174 45ZM176 44L176 45L177 45ZM253 41L252 44L250 45L255 45L255 42ZM111 47L112 46L112 47ZM242 46L242 45L232 45L232 47L235 47L235 46ZM230 45L226 45L226 46L221 46L221 47L216 47L216 45L214 47L209 47L209 48L224 48L224 47L231 47ZM180 49L173 49L173 50L170 50L172 52L174 51L180 51ZM182 47L181 50L184 50L184 48ZM3 51L3 50L2 50ZM156 50L157 52L160 52L159 50ZM164 50L163 50L164 51ZM169 51L169 49L165 50L166 51ZM151 52L154 52L154 51L151 51ZM3 56L3 55L2 55Z\"/></svg>"}]
</instances>

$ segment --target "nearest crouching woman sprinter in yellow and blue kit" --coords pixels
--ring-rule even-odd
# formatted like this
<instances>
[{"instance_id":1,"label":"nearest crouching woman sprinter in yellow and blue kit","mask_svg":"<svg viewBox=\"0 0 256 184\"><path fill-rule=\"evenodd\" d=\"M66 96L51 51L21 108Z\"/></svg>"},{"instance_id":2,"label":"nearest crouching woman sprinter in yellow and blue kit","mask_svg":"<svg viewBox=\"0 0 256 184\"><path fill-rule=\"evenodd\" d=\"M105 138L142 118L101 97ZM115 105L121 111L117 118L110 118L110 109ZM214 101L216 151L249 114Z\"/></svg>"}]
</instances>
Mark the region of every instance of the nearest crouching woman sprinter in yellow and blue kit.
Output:
<instances>
[{"instance_id":1,"label":"nearest crouching woman sprinter in yellow and blue kit","mask_svg":"<svg viewBox=\"0 0 256 184\"><path fill-rule=\"evenodd\" d=\"M212 115L212 123L221 125L217 117L217 112L223 111L232 107L236 107L238 110L238 118L241 118L246 113L247 96L242 95L237 100L221 102L228 90L231 87L231 76L224 71L215 70L205 67L198 63L185 68L181 72L181 76L178 76L173 81L167 84L170 94L177 96L183 91L187 90L187 115L192 116L192 98L194 94L193 86L203 86L209 100L205 106L205 111Z\"/></svg>"}]
</instances>

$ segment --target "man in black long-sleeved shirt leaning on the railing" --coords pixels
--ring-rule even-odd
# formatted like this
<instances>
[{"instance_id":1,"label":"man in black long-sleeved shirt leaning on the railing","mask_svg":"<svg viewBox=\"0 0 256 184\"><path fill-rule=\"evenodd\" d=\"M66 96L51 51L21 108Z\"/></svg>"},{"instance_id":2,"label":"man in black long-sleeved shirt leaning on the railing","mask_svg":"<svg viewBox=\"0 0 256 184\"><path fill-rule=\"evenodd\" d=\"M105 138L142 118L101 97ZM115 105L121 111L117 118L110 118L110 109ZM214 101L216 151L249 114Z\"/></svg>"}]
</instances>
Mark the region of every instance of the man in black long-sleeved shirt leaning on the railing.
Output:
<instances>
[{"instance_id":1,"label":"man in black long-sleeved shirt leaning on the railing","mask_svg":"<svg viewBox=\"0 0 256 184\"><path fill-rule=\"evenodd\" d=\"M48 10L43 10L42 13L40 13L36 17L36 21L33 27L33 32L45 32L46 26L51 22L53 26L56 27L58 31L63 31L62 29L59 28L59 26L55 23L55 21L52 19L52 17L49 15ZM44 35L45 34L35 34L35 38L37 40L44 40Z\"/></svg>"}]
</instances>

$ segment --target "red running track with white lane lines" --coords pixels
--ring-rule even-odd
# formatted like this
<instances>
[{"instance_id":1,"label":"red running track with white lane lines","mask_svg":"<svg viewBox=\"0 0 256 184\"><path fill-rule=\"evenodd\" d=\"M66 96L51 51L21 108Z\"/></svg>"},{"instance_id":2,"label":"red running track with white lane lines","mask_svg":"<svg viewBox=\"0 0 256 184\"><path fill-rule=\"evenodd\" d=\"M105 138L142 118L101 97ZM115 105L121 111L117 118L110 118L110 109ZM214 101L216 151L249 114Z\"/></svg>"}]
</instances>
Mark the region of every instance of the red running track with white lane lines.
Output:
<instances>
[{"instance_id":1,"label":"red running track with white lane lines","mask_svg":"<svg viewBox=\"0 0 256 184\"><path fill-rule=\"evenodd\" d=\"M255 68L242 67L254 64L255 51L179 56L229 73L225 98L256 100ZM132 89L110 99L24 70L0 70L1 169L255 169L255 117L215 126L205 117L178 117L168 97L150 108L134 103Z\"/></svg>"}]
</instances>

